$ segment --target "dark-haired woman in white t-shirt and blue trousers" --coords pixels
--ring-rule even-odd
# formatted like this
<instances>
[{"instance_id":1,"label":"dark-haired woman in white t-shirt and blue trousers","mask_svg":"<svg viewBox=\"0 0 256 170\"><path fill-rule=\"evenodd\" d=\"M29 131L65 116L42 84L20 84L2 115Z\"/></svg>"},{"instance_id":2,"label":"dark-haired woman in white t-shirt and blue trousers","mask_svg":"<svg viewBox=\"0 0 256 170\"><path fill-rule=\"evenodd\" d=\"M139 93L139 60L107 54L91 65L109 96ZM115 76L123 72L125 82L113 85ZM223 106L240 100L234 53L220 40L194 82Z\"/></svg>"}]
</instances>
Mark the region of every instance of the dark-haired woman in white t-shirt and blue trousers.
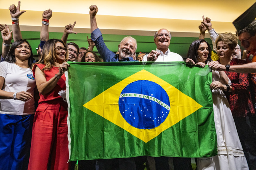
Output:
<instances>
[{"instance_id":1,"label":"dark-haired woman in white t-shirt and blue trousers","mask_svg":"<svg viewBox=\"0 0 256 170\"><path fill-rule=\"evenodd\" d=\"M0 169L28 168L35 113L33 54L26 40L12 45L0 63Z\"/></svg>"}]
</instances>

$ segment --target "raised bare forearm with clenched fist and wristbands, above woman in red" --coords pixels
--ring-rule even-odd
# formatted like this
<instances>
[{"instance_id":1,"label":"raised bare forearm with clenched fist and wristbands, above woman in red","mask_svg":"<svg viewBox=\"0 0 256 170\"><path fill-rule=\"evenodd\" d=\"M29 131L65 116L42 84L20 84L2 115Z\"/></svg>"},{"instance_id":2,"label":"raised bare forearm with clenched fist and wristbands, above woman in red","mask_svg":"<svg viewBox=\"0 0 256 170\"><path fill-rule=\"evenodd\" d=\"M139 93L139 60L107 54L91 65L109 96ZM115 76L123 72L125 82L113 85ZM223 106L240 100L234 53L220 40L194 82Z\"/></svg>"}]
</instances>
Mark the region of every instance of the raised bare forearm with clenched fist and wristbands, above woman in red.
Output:
<instances>
[{"instance_id":1,"label":"raised bare forearm with clenched fist and wristbands, above woman in red","mask_svg":"<svg viewBox=\"0 0 256 170\"><path fill-rule=\"evenodd\" d=\"M40 32L40 40L41 41L48 41L49 40L49 20L52 17L52 10L48 9L43 12L43 21L42 27Z\"/></svg>"}]
</instances>

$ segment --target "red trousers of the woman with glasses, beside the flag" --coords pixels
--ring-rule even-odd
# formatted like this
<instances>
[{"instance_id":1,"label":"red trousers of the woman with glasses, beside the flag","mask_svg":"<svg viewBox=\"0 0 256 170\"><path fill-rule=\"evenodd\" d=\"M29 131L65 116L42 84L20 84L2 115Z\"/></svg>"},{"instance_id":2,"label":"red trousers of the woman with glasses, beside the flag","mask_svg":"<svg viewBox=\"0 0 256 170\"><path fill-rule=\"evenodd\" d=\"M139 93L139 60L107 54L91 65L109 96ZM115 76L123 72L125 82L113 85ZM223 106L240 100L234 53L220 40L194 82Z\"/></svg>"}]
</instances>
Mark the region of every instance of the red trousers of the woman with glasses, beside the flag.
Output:
<instances>
[{"instance_id":1,"label":"red trousers of the woman with glasses, beside the flag","mask_svg":"<svg viewBox=\"0 0 256 170\"><path fill-rule=\"evenodd\" d=\"M28 170L69 170L67 115L67 103L39 104Z\"/></svg>"}]
</instances>

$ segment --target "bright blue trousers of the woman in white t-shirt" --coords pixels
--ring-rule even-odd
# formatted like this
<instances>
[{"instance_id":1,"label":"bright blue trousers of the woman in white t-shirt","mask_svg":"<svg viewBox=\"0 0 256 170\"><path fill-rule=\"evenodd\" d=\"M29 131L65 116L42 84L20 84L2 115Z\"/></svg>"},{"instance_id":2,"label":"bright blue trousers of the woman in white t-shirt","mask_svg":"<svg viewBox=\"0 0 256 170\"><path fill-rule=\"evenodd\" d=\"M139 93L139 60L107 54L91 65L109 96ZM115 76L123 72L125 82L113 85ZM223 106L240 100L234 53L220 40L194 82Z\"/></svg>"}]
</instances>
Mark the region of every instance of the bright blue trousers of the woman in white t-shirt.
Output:
<instances>
[{"instance_id":1,"label":"bright blue trousers of the woman in white t-shirt","mask_svg":"<svg viewBox=\"0 0 256 170\"><path fill-rule=\"evenodd\" d=\"M27 170L34 115L0 114L0 170Z\"/></svg>"}]
</instances>

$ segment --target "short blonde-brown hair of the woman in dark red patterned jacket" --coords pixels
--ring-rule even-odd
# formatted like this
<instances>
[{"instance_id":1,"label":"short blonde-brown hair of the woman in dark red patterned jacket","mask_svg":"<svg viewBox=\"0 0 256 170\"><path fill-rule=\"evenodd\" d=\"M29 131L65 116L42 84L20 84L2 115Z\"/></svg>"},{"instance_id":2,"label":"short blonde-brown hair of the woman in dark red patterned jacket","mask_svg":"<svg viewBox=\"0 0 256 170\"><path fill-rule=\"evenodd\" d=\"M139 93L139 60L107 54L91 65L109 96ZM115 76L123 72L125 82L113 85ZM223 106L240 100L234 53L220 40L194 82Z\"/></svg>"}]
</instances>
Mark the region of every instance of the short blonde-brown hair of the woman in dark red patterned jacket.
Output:
<instances>
[{"instance_id":1,"label":"short blonde-brown hair of the woman in dark red patterned jacket","mask_svg":"<svg viewBox=\"0 0 256 170\"><path fill-rule=\"evenodd\" d=\"M219 41L223 41L223 42L227 43L231 50L234 50L236 48L236 45L237 45L236 36L232 33L221 33L221 34L219 34L218 38L215 41L216 42L216 47L217 47L217 43Z\"/></svg>"}]
</instances>

